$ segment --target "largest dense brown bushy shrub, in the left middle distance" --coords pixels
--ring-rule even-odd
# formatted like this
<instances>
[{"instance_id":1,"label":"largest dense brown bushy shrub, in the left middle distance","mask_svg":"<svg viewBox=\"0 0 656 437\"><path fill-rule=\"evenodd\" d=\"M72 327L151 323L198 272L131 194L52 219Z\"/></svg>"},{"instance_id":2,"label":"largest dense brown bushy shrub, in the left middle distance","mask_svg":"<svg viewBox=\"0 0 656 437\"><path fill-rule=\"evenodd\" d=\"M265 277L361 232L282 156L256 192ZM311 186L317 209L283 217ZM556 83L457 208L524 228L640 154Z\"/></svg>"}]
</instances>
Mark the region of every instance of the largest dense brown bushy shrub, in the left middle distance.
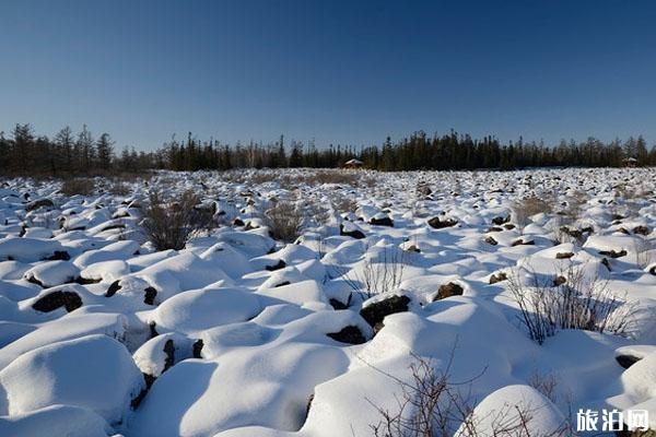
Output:
<instances>
[{"instance_id":1,"label":"largest dense brown bushy shrub, in the left middle distance","mask_svg":"<svg viewBox=\"0 0 656 437\"><path fill-rule=\"evenodd\" d=\"M198 209L199 203L191 191L185 191L177 202L165 202L157 191L151 192L141 225L157 250L184 249L195 233L213 226L212 213Z\"/></svg>"}]
</instances>

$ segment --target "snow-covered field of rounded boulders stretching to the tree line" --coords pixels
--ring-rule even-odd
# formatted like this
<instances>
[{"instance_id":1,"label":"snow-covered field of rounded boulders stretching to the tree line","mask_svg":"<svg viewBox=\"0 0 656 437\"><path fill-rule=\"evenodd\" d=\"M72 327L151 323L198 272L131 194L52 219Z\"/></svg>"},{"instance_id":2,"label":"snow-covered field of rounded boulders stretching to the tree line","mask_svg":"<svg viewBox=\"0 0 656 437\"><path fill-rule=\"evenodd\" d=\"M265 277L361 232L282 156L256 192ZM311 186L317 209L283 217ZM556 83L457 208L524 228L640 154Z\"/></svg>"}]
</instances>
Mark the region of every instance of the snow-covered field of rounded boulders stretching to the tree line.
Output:
<instances>
[{"instance_id":1,"label":"snow-covered field of rounded boulders stretching to the tree line","mask_svg":"<svg viewBox=\"0 0 656 437\"><path fill-rule=\"evenodd\" d=\"M656 429L654 170L314 175L1 181L0 435L371 436L418 363L461 382L479 436L524 435L494 434L515 405L531 435L635 405ZM188 189L220 226L154 250L149 191ZM269 236L276 202L305 216L295 244ZM538 344L509 284L572 271L625 329Z\"/></svg>"}]
</instances>

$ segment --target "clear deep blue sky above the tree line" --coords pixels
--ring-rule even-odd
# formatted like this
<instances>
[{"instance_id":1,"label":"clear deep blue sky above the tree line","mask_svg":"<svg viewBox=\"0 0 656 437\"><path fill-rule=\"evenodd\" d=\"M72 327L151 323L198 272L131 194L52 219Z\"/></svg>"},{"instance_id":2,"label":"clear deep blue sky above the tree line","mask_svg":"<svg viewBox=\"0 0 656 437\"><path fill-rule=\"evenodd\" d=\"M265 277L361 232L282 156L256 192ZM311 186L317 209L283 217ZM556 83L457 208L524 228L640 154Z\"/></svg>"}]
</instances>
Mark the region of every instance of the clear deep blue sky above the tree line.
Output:
<instances>
[{"instance_id":1,"label":"clear deep blue sky above the tree line","mask_svg":"<svg viewBox=\"0 0 656 437\"><path fill-rule=\"evenodd\" d=\"M656 140L654 1L0 2L0 130Z\"/></svg>"}]
</instances>

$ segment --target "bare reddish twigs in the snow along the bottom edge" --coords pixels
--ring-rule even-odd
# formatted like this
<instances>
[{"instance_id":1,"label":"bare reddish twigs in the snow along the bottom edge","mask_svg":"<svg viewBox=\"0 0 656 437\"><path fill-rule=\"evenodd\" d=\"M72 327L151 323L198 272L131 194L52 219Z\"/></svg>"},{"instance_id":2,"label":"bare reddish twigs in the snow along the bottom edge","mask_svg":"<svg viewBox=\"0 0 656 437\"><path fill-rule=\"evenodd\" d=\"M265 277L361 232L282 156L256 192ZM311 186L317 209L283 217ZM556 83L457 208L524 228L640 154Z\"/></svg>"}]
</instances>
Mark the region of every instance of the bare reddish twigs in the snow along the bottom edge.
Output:
<instances>
[{"instance_id":1,"label":"bare reddish twigs in the snow along the bottom edge","mask_svg":"<svg viewBox=\"0 0 656 437\"><path fill-rule=\"evenodd\" d=\"M436 370L433 363L415 356L410 365L410 381L402 380L379 369L400 388L395 395L394 411L376 405L380 420L370 425L375 437L565 437L572 435L565 421L552 432L536 432L531 426L539 406L507 403L497 411L481 416L475 413L470 401L475 378L454 382L449 370L453 352L445 370ZM482 427L485 422L491 426ZM491 427L491 429L490 429Z\"/></svg>"}]
</instances>

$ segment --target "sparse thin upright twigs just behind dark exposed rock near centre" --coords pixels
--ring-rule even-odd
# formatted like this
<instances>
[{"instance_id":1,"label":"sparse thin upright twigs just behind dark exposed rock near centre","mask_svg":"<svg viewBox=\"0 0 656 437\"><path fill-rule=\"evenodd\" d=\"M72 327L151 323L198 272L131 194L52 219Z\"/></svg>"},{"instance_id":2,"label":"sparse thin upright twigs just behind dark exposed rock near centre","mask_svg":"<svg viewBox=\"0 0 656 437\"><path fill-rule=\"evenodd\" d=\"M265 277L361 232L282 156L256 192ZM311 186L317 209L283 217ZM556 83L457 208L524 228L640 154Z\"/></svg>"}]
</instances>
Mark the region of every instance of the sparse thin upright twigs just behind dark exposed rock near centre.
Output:
<instances>
[{"instance_id":1,"label":"sparse thin upright twigs just behind dark exposed rock near centre","mask_svg":"<svg viewBox=\"0 0 656 437\"><path fill-rule=\"evenodd\" d=\"M385 248L382 260L374 261L365 257L362 273L351 270L342 274L342 277L351 288L364 293L367 298L391 292L403 280L405 258L405 251Z\"/></svg>"}]
</instances>

